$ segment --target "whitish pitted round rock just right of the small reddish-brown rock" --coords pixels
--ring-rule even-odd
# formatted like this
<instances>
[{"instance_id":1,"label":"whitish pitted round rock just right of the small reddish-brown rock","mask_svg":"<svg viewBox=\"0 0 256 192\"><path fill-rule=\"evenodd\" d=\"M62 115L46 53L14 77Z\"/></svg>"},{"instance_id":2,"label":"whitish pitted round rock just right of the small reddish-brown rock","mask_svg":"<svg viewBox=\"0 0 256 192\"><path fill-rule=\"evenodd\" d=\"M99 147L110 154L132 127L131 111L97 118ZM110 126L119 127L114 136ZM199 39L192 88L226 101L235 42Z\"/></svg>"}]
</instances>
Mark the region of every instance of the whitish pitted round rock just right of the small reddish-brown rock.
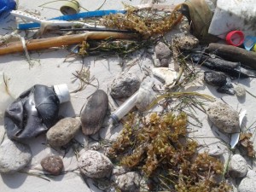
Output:
<instances>
[{"instance_id":1,"label":"whitish pitted round rock just right of the small reddish-brown rock","mask_svg":"<svg viewBox=\"0 0 256 192\"><path fill-rule=\"evenodd\" d=\"M107 156L94 150L81 151L78 160L80 172L87 177L108 177L113 164Z\"/></svg>"}]
</instances>

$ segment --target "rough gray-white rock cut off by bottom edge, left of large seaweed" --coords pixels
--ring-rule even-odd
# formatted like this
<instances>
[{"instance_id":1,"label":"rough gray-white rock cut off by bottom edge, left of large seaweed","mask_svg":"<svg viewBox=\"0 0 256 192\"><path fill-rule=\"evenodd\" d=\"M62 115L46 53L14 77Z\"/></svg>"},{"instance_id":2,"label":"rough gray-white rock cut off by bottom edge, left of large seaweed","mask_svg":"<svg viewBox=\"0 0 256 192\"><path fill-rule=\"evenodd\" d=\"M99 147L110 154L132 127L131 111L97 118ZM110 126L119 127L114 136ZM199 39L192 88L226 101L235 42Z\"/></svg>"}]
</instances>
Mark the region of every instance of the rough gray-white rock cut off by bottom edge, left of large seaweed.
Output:
<instances>
[{"instance_id":1,"label":"rough gray-white rock cut off by bottom edge, left of large seaweed","mask_svg":"<svg viewBox=\"0 0 256 192\"><path fill-rule=\"evenodd\" d=\"M127 172L115 177L121 191L139 191L142 177L137 172Z\"/></svg>"}]
</instances>

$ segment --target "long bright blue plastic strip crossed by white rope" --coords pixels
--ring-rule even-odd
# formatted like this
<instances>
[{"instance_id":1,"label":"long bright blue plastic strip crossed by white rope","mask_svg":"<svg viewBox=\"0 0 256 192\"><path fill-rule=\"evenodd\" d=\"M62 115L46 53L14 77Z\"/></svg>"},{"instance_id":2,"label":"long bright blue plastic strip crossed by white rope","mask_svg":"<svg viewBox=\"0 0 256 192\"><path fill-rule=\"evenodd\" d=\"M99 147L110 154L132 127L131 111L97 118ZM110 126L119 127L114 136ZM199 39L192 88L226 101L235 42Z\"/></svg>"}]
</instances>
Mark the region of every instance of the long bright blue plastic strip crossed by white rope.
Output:
<instances>
[{"instance_id":1,"label":"long bright blue plastic strip crossed by white rope","mask_svg":"<svg viewBox=\"0 0 256 192\"><path fill-rule=\"evenodd\" d=\"M125 10L97 10L97 11L88 11L88 12L83 12L79 14L74 14L74 15L63 15L59 17L55 17L49 20L79 20L81 18L90 18L90 17L101 17L104 15L110 15L110 14L125 14ZM24 24L19 24L18 29L20 30L26 30L26 29L31 29L31 28L36 28L40 27L39 23L24 23Z\"/></svg>"}]
</instances>

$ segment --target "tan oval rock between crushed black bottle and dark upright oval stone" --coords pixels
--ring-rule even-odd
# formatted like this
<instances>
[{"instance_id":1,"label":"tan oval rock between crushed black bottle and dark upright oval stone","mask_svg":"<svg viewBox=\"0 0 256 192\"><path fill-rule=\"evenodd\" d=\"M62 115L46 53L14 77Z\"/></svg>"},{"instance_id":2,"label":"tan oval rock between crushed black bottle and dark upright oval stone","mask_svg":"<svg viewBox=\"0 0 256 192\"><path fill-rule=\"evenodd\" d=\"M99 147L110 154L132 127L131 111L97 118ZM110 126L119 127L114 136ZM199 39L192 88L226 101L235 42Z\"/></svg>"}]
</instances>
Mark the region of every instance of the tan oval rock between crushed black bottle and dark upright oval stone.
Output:
<instances>
[{"instance_id":1,"label":"tan oval rock between crushed black bottle and dark upright oval stone","mask_svg":"<svg viewBox=\"0 0 256 192\"><path fill-rule=\"evenodd\" d=\"M64 118L52 126L46 133L47 143L52 147L61 147L66 145L75 137L81 121L75 118Z\"/></svg>"}]
</instances>

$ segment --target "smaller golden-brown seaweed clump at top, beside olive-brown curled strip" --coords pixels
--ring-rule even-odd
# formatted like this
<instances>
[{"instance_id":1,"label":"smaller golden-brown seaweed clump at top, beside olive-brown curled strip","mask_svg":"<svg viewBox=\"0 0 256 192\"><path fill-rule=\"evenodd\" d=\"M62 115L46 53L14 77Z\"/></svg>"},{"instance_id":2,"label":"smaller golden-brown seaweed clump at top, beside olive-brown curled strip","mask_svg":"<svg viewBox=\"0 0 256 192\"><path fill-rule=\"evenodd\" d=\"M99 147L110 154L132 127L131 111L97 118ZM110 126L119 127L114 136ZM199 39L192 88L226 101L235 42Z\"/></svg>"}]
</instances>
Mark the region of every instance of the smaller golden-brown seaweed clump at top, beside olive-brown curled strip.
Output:
<instances>
[{"instance_id":1,"label":"smaller golden-brown seaweed clump at top, beside olive-brown curled strip","mask_svg":"<svg viewBox=\"0 0 256 192\"><path fill-rule=\"evenodd\" d=\"M137 9L126 6L125 14L106 15L102 18L102 25L120 30L131 30L150 38L156 35L164 35L182 19L183 15L178 11L180 5L168 13L158 13L154 9Z\"/></svg>"}]
</instances>

